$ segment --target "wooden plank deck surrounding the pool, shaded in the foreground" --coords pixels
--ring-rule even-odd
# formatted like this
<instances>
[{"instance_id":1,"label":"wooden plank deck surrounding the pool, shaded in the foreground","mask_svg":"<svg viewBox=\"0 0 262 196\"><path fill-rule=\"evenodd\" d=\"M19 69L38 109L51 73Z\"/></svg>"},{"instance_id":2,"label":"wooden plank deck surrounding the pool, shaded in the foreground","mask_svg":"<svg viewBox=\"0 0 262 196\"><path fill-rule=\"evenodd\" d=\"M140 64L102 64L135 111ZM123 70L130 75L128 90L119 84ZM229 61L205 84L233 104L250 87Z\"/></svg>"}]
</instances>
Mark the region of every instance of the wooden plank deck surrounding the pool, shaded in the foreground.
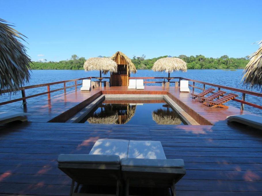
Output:
<instances>
[{"instance_id":1,"label":"wooden plank deck surrounding the pool, shaded in the foreground","mask_svg":"<svg viewBox=\"0 0 262 196\"><path fill-rule=\"evenodd\" d=\"M46 123L70 108L77 109L101 91L167 94L195 118L201 116L214 125ZM50 102L43 100L28 105L27 111L33 114L30 122L1 127L2 195L68 195L71 181L57 168L58 155L88 154L100 138L161 141L168 159L185 161L187 174L176 186L179 196L262 195L262 133L226 123L226 116L242 113L238 108L210 109L177 88L146 86L139 91L123 87L77 91Z\"/></svg>"}]
</instances>

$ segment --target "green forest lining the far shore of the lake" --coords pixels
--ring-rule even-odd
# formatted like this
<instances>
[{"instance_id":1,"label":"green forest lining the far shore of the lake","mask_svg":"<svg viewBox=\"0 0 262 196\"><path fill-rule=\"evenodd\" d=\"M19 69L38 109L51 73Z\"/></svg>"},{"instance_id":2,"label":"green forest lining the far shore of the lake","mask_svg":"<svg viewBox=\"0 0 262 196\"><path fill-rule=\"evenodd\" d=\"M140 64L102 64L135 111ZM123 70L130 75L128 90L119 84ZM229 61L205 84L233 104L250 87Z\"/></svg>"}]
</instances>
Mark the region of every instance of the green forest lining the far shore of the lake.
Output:
<instances>
[{"instance_id":1,"label":"green forest lining the far shore of the lake","mask_svg":"<svg viewBox=\"0 0 262 196\"><path fill-rule=\"evenodd\" d=\"M145 55L141 57L133 56L132 62L137 69L151 69L155 61L167 56L157 57L153 59L146 59ZM187 63L187 69L243 69L248 63L248 57L243 58L229 58L227 55L223 55L220 58L208 58L204 55L196 55L187 57L186 55L179 55L177 58L183 59ZM78 57L72 55L70 60L64 60L59 62L49 61L37 61L31 63L31 69L83 69L83 64L86 59L84 57Z\"/></svg>"}]
</instances>

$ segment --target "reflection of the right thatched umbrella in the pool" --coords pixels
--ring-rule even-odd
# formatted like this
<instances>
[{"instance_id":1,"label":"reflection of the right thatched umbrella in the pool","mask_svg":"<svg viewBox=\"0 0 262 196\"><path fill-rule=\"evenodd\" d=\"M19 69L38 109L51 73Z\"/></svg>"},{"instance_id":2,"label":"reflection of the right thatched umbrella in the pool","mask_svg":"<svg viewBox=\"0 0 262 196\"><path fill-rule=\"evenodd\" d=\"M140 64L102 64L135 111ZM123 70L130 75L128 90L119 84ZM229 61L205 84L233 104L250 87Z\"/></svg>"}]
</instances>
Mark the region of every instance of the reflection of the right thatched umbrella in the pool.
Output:
<instances>
[{"instance_id":1,"label":"reflection of the right thatched umbrella in the pool","mask_svg":"<svg viewBox=\"0 0 262 196\"><path fill-rule=\"evenodd\" d=\"M180 125L181 120L169 109L157 109L152 112L152 118L158 125Z\"/></svg>"}]
</instances>

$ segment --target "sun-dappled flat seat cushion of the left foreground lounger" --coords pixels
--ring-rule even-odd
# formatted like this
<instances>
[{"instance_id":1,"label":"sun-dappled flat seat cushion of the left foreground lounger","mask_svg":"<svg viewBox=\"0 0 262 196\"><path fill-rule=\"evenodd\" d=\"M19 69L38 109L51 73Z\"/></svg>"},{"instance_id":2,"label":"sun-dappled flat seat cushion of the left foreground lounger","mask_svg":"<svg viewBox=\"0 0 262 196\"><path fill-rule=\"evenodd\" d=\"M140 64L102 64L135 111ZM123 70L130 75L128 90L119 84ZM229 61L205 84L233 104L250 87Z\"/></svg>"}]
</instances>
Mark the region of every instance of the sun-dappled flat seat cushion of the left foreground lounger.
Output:
<instances>
[{"instance_id":1,"label":"sun-dappled flat seat cushion of the left foreground lounger","mask_svg":"<svg viewBox=\"0 0 262 196\"><path fill-rule=\"evenodd\" d=\"M118 155L127 158L128 140L124 139L98 139L89 154Z\"/></svg>"}]
</instances>

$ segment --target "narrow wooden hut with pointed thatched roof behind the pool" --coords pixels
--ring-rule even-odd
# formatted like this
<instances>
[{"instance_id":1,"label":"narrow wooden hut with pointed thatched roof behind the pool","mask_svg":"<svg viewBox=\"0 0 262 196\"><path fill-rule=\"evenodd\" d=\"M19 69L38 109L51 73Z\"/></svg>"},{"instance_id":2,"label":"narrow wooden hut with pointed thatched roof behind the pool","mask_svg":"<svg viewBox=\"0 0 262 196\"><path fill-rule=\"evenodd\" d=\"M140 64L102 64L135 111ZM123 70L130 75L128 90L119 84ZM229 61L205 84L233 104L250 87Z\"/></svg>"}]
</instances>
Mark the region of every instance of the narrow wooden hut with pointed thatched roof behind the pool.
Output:
<instances>
[{"instance_id":1,"label":"narrow wooden hut with pointed thatched roof behind the pool","mask_svg":"<svg viewBox=\"0 0 262 196\"><path fill-rule=\"evenodd\" d=\"M116 52L111 59L117 63L117 72L110 73L110 86L128 86L130 73L136 73L136 67L125 54Z\"/></svg>"}]
</instances>

